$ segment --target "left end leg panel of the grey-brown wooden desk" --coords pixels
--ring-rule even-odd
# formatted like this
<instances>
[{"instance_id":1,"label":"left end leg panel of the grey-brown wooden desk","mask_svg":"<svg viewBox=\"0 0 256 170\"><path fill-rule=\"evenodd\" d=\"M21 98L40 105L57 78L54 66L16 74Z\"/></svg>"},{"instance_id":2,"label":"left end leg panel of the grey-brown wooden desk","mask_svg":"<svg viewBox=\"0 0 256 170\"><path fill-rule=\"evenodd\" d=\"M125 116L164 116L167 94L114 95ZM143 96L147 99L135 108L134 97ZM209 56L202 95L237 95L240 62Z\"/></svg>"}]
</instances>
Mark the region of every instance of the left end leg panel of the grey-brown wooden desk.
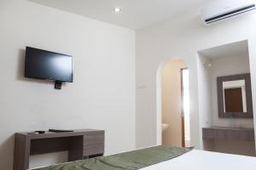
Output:
<instances>
[{"instance_id":1,"label":"left end leg panel of the grey-brown wooden desk","mask_svg":"<svg viewBox=\"0 0 256 170\"><path fill-rule=\"evenodd\" d=\"M26 170L29 167L30 139L15 134L14 170Z\"/></svg>"}]
</instances>

